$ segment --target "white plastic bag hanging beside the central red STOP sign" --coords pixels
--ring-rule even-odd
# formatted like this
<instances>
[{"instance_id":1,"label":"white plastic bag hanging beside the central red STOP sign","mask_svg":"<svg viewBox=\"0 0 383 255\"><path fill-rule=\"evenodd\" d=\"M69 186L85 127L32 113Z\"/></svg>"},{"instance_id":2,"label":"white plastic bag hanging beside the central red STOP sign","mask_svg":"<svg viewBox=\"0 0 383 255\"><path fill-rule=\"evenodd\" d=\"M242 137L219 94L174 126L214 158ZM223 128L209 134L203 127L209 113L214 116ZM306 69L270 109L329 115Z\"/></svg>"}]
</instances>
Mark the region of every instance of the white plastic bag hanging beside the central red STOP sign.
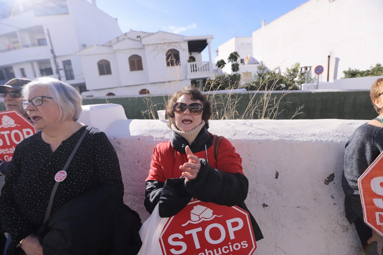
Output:
<instances>
[{"instance_id":1,"label":"white plastic bag hanging beside the central red STOP sign","mask_svg":"<svg viewBox=\"0 0 383 255\"><path fill-rule=\"evenodd\" d=\"M151 216L142 224L139 231L142 246L137 255L162 255L160 247L160 235L169 218L161 218L158 212L158 204Z\"/></svg>"}]
</instances>

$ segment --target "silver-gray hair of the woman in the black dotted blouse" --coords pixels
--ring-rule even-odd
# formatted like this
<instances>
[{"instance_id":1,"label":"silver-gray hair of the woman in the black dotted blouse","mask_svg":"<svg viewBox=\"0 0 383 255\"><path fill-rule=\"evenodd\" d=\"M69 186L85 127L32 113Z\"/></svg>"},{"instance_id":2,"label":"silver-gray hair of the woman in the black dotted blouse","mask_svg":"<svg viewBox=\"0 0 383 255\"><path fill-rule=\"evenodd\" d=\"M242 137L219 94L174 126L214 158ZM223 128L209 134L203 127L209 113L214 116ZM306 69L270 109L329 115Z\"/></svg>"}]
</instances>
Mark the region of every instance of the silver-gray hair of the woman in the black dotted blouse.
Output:
<instances>
[{"instance_id":1,"label":"silver-gray hair of the woman in the black dotted blouse","mask_svg":"<svg viewBox=\"0 0 383 255\"><path fill-rule=\"evenodd\" d=\"M34 87L46 87L49 95L56 101L60 109L60 120L73 119L77 121L82 112L82 99L77 90L61 80L51 77L38 77L36 80L23 86L23 97L28 98L29 92Z\"/></svg>"}]
</instances>

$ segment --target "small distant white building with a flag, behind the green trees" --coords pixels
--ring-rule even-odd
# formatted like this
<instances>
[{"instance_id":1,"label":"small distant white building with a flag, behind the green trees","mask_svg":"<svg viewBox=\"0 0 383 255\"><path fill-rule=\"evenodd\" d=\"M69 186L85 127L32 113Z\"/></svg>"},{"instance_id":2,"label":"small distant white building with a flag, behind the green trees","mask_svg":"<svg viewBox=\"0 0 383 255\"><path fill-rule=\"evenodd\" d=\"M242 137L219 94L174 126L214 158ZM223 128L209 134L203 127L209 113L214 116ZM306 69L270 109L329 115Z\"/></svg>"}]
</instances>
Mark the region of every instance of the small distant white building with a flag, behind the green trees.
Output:
<instances>
[{"instance_id":1,"label":"small distant white building with a flag, behind the green trees","mask_svg":"<svg viewBox=\"0 0 383 255\"><path fill-rule=\"evenodd\" d=\"M252 57L253 47L252 47L252 37L251 36L240 36L233 37L226 43L223 43L218 46L217 56L215 57L215 63L223 59L227 64L222 69L226 74L233 74L231 70L231 62L228 62L228 57L230 53L236 51L239 54L239 59L237 63L239 64L238 73L241 74L241 83L250 83L254 79L254 74L257 73L258 61ZM247 61L246 61L247 59Z\"/></svg>"}]
</instances>

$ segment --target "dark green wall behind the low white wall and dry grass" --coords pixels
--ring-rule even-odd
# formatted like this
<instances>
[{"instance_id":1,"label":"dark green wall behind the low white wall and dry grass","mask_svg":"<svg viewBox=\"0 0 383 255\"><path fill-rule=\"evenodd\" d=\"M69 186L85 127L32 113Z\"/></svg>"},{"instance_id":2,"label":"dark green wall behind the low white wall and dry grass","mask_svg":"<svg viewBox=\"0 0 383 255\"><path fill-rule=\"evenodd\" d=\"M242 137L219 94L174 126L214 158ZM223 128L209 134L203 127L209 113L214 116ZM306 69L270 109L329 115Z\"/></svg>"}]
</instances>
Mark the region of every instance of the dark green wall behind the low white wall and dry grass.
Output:
<instances>
[{"instance_id":1,"label":"dark green wall behind the low white wall and dry grass","mask_svg":"<svg viewBox=\"0 0 383 255\"><path fill-rule=\"evenodd\" d=\"M241 97L236 106L238 114L242 114L246 109L250 98L254 93L239 94ZM254 100L259 100L262 94L258 93ZM273 93L273 96L280 96L280 93ZM151 96L154 110L164 109L164 96ZM125 97L125 98L85 98L84 105L115 103L122 105L128 119L144 119L142 111L147 110L145 98ZM290 103L286 103L290 102ZM369 91L350 91L350 92L291 92L285 95L279 109L285 109L277 116L277 119L290 119L295 113L296 108L304 105L302 114L294 119L373 119L377 116L372 103L370 102ZM0 104L0 110L5 107ZM157 115L156 115L157 117ZM146 118L149 118L146 115ZM253 116L257 119L257 116Z\"/></svg>"}]
</instances>

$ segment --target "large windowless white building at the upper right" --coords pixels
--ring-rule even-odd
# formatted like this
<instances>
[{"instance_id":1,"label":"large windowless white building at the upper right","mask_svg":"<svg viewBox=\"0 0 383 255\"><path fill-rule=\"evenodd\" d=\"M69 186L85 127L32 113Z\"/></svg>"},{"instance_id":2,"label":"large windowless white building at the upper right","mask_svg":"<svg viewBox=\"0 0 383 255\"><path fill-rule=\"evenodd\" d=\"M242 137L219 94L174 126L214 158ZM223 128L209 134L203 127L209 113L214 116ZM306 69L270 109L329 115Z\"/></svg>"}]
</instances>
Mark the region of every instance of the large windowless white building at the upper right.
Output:
<instances>
[{"instance_id":1,"label":"large windowless white building at the upper right","mask_svg":"<svg viewBox=\"0 0 383 255\"><path fill-rule=\"evenodd\" d=\"M253 32L252 56L269 69L285 72L324 67L320 82L343 71L366 70L383 60L382 0L311 0ZM328 57L329 56L329 57Z\"/></svg>"}]
</instances>

